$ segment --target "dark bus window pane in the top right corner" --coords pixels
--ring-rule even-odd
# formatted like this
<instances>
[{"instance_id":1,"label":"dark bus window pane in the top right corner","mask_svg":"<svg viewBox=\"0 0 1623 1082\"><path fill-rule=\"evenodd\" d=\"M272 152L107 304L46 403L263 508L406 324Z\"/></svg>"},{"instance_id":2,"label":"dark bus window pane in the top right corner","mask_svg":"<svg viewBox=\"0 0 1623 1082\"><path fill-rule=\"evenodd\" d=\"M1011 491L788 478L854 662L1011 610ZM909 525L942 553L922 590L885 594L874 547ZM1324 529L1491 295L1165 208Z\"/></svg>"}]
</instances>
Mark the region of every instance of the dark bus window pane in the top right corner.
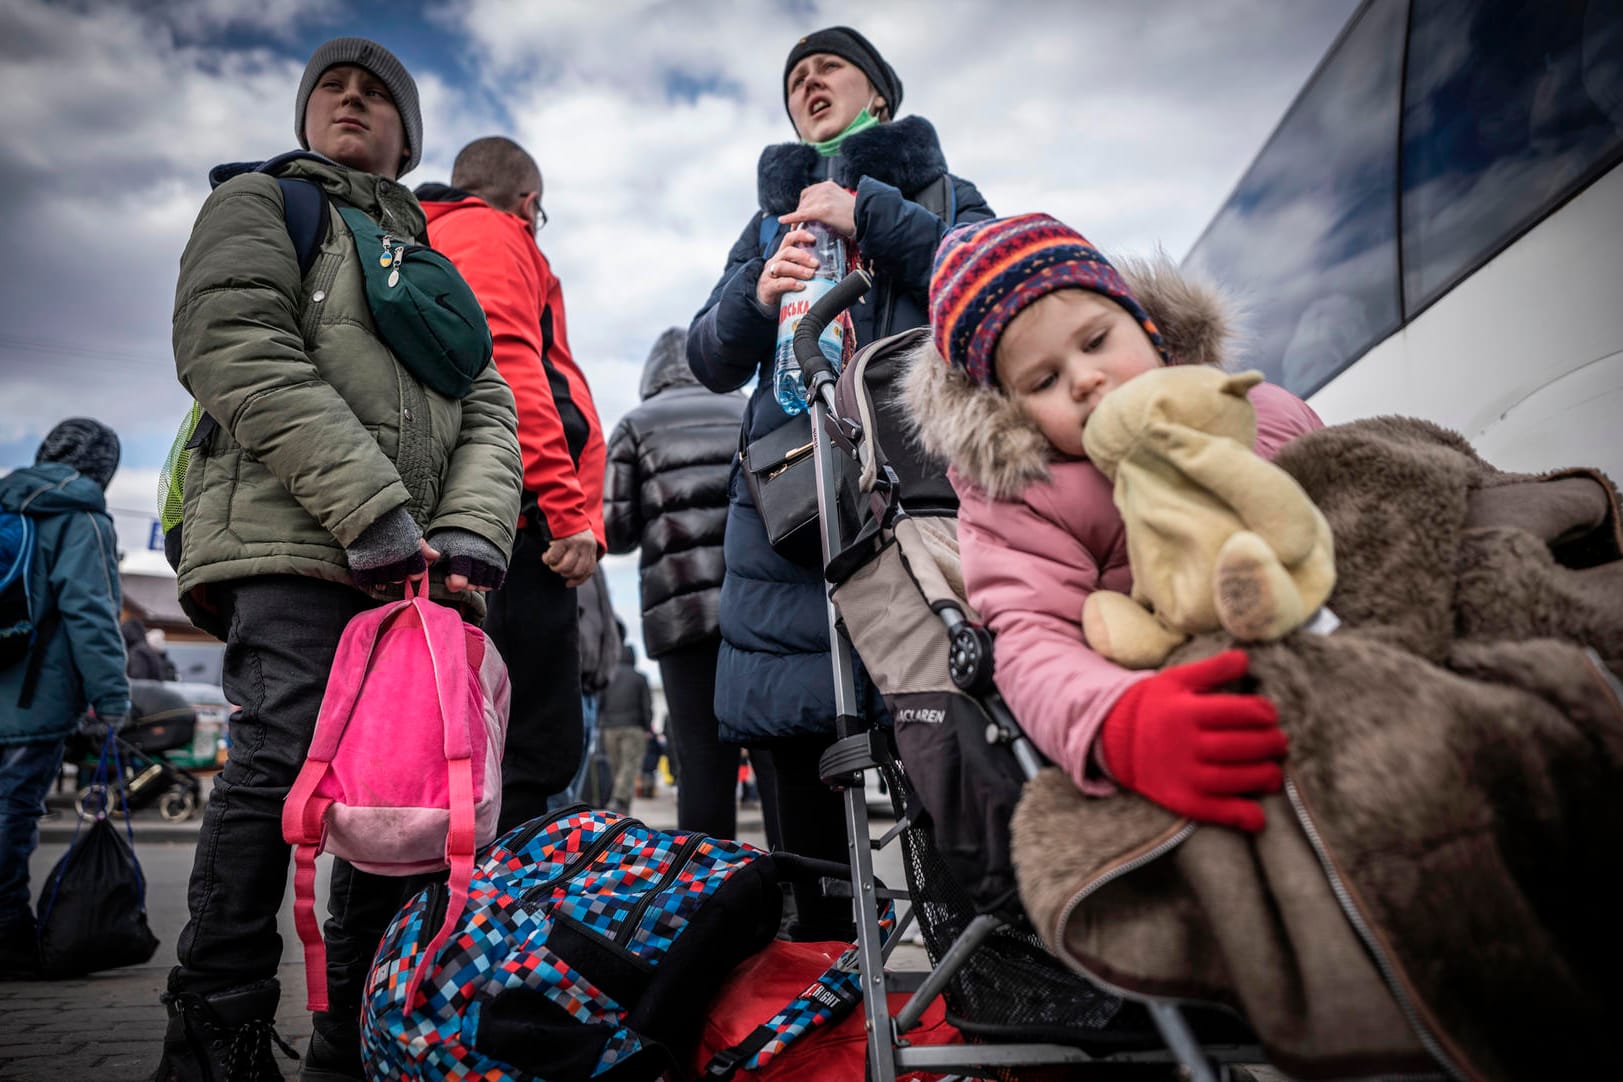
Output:
<instances>
[{"instance_id":1,"label":"dark bus window pane in the top right corner","mask_svg":"<svg viewBox=\"0 0 1623 1082\"><path fill-rule=\"evenodd\" d=\"M1623 0L1415 3L1404 88L1412 320L1623 151Z\"/></svg>"}]
</instances>

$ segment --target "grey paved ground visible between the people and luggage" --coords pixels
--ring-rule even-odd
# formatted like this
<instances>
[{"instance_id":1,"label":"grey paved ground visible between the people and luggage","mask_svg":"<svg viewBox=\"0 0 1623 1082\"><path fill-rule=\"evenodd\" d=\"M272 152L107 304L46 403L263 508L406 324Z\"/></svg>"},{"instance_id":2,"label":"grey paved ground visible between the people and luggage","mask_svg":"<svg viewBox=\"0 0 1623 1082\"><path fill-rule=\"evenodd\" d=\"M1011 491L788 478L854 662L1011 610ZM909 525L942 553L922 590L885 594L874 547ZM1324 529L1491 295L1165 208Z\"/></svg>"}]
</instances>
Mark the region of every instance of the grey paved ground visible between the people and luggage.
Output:
<instances>
[{"instance_id":1,"label":"grey paved ground visible between the people and luggage","mask_svg":"<svg viewBox=\"0 0 1623 1082\"><path fill-rule=\"evenodd\" d=\"M54 816L41 824L41 847L31 866L36 895L52 865L67 850L78 822L65 795L54 798L52 806ZM638 800L631 811L649 826L675 826L675 800L669 787L652 800ZM876 831L886 826L889 824L880 821ZM196 831L196 819L169 824L151 809L143 809L135 818L136 855L148 878L148 921L159 938L157 954L149 964L84 980L0 981L0 1019L5 1020L0 1025L0 1080L135 1082L151 1077L164 1032L164 1009L157 996L174 964L175 938L185 923L185 887ZM764 845L758 809L740 813L738 835ZM326 860L321 865L325 871ZM881 869L880 874L888 882L901 882L899 866L889 874ZM289 895L291 891L289 886ZM326 897L325 882L318 882L316 897ZM318 902L318 908L325 913L323 902ZM893 965L922 967L923 951L901 947ZM291 897L282 905L279 977L282 1006L276 1025L294 1048L304 1051L310 1037L310 1015L304 1011L304 959L292 928ZM289 1064L287 1077L294 1074L295 1066Z\"/></svg>"}]
</instances>

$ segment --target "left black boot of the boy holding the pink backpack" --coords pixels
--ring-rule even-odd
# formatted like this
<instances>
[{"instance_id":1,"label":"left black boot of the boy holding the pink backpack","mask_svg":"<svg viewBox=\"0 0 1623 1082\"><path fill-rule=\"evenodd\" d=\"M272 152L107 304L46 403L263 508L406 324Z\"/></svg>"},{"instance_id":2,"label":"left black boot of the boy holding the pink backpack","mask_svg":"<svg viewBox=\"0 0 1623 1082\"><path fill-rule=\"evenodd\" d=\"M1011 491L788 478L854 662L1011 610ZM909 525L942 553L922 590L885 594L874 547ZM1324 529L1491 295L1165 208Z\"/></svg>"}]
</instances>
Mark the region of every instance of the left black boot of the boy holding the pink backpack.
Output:
<instances>
[{"instance_id":1,"label":"left black boot of the boy holding the pink backpack","mask_svg":"<svg viewBox=\"0 0 1623 1082\"><path fill-rule=\"evenodd\" d=\"M153 1082L282 1082L271 1043L292 1059L299 1053L276 1032L279 996L276 980L198 994L175 991L170 978L164 1058Z\"/></svg>"}]
</instances>

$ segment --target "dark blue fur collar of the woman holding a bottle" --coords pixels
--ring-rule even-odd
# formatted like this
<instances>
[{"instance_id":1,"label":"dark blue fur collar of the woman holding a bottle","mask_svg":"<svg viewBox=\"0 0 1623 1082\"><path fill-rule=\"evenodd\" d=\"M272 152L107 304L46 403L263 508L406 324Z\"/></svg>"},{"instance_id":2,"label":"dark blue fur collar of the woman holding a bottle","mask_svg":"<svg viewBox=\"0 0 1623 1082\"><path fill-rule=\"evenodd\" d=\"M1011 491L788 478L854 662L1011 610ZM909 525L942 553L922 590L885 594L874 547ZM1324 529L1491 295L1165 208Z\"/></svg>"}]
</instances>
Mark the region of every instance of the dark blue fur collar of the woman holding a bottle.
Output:
<instances>
[{"instance_id":1,"label":"dark blue fur collar of the woman holding a bottle","mask_svg":"<svg viewBox=\"0 0 1623 1082\"><path fill-rule=\"evenodd\" d=\"M824 180L826 157L805 143L777 143L761 151L756 195L768 214L787 214L800 204L800 190ZM946 172L935 128L923 117L902 117L846 136L834 161L834 180L855 188L873 177L912 195Z\"/></svg>"}]
</instances>

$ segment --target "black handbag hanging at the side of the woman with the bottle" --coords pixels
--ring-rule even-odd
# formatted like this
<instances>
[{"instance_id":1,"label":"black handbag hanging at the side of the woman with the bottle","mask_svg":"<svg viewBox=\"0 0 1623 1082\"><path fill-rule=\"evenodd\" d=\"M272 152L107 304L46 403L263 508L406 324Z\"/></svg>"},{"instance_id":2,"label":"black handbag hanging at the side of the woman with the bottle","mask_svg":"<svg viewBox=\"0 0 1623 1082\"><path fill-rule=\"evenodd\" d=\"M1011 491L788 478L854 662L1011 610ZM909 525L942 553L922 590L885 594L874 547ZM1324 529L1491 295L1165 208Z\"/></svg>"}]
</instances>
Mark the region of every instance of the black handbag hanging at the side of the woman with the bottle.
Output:
<instances>
[{"instance_id":1,"label":"black handbag hanging at the side of the woman with the bottle","mask_svg":"<svg viewBox=\"0 0 1623 1082\"><path fill-rule=\"evenodd\" d=\"M812 457L812 412L795 414L760 440L743 443L738 457L750 500L766 526L766 540L779 556L808 568L823 565L823 535L816 519L816 462ZM833 454L841 511L852 503L854 477L844 454Z\"/></svg>"}]
</instances>

